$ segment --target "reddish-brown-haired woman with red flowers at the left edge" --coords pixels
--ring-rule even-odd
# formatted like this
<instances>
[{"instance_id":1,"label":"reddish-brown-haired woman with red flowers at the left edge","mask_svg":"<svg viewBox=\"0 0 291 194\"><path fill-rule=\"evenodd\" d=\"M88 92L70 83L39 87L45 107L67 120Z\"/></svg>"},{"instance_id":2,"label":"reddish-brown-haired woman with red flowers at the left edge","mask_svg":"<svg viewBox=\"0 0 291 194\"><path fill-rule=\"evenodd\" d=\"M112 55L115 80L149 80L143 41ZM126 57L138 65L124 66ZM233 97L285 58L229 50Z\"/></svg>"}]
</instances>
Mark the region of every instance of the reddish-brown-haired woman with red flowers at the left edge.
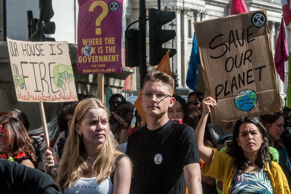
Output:
<instances>
[{"instance_id":1,"label":"reddish-brown-haired woman with red flowers at the left edge","mask_svg":"<svg viewBox=\"0 0 291 194\"><path fill-rule=\"evenodd\" d=\"M36 155L22 122L13 116L0 118L0 158L36 167Z\"/></svg>"}]
</instances>

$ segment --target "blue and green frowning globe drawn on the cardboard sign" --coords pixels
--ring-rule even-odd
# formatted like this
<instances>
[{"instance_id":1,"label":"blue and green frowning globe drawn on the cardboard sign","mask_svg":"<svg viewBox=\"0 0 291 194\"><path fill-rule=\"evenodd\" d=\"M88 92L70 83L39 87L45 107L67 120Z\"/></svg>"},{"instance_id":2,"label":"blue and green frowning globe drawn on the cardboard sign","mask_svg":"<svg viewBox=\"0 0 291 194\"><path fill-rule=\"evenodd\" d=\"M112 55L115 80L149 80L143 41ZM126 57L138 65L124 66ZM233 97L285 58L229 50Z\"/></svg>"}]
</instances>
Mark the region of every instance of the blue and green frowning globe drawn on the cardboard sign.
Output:
<instances>
[{"instance_id":1,"label":"blue and green frowning globe drawn on the cardboard sign","mask_svg":"<svg viewBox=\"0 0 291 194\"><path fill-rule=\"evenodd\" d=\"M253 90L242 90L235 96L235 106L241 111L251 110L257 103L258 97Z\"/></svg>"}]
</instances>

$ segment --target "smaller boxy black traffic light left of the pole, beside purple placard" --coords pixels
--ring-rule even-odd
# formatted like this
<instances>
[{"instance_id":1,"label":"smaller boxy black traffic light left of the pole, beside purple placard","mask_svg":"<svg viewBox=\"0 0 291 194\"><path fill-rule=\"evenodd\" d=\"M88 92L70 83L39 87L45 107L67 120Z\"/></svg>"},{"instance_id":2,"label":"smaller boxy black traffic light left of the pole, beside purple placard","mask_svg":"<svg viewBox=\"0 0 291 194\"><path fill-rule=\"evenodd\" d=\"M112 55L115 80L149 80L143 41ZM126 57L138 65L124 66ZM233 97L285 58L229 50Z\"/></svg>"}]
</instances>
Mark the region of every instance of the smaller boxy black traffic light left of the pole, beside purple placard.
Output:
<instances>
[{"instance_id":1,"label":"smaller boxy black traffic light left of the pole, beside purple placard","mask_svg":"<svg viewBox=\"0 0 291 194\"><path fill-rule=\"evenodd\" d=\"M139 67L139 29L125 30L125 65Z\"/></svg>"}]
</instances>

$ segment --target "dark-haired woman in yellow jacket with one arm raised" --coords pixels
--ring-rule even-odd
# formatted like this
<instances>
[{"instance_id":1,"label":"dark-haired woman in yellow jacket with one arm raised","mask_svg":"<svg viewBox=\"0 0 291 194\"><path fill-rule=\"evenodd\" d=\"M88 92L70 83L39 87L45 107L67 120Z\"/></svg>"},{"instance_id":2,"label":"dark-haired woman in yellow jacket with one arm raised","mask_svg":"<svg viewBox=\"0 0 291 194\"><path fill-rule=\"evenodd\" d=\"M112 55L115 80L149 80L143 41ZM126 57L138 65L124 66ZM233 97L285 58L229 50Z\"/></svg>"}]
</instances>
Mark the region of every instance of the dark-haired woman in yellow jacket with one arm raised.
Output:
<instances>
[{"instance_id":1,"label":"dark-haired woman in yellow jacket with one arm raised","mask_svg":"<svg viewBox=\"0 0 291 194\"><path fill-rule=\"evenodd\" d=\"M223 193L290 194L281 167L272 161L268 132L256 117L238 120L228 153L203 145L203 136L210 109L216 106L211 97L202 101L203 114L196 128L202 173L223 181Z\"/></svg>"}]
</instances>

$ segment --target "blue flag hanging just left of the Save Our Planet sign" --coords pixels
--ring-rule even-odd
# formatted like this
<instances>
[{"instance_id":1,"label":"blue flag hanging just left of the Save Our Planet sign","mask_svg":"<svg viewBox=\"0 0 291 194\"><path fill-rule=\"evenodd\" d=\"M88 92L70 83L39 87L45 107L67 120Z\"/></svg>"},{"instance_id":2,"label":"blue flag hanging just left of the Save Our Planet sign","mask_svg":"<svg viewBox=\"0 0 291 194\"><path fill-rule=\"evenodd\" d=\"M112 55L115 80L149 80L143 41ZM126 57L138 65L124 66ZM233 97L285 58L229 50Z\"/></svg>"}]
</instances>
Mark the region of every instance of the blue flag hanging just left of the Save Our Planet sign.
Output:
<instances>
[{"instance_id":1,"label":"blue flag hanging just left of the Save Our Planet sign","mask_svg":"<svg viewBox=\"0 0 291 194\"><path fill-rule=\"evenodd\" d=\"M197 47L197 42L196 42L196 34L194 32L192 50L191 50L191 55L190 55L188 71L187 71L187 77L186 77L186 84L193 91L196 90L196 85L197 85L197 73L198 73L197 64L201 64L201 62L200 62L200 57L199 57L198 47Z\"/></svg>"}]
</instances>

